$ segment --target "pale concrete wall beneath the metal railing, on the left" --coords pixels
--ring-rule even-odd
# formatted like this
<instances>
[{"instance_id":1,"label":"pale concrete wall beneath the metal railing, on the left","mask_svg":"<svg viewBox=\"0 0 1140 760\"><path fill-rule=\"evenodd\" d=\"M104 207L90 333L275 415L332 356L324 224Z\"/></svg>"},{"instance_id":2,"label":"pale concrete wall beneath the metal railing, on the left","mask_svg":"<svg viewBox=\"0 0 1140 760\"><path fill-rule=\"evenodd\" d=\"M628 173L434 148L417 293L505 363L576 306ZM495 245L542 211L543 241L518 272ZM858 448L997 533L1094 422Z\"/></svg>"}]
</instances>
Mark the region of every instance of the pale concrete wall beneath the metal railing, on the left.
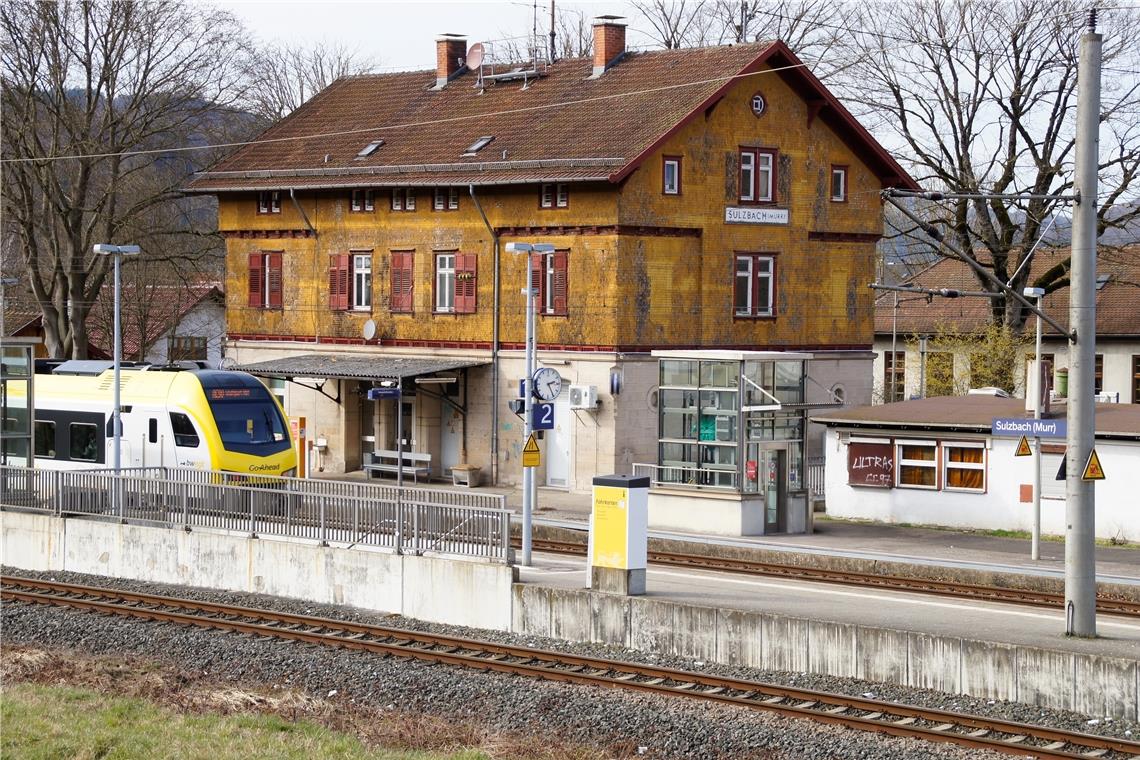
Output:
<instances>
[{"instance_id":1,"label":"pale concrete wall beneath the metal railing, on the left","mask_svg":"<svg viewBox=\"0 0 1140 760\"><path fill-rule=\"evenodd\" d=\"M514 569L355 547L2 513L3 564L344 604L510 630Z\"/></svg>"}]
</instances>

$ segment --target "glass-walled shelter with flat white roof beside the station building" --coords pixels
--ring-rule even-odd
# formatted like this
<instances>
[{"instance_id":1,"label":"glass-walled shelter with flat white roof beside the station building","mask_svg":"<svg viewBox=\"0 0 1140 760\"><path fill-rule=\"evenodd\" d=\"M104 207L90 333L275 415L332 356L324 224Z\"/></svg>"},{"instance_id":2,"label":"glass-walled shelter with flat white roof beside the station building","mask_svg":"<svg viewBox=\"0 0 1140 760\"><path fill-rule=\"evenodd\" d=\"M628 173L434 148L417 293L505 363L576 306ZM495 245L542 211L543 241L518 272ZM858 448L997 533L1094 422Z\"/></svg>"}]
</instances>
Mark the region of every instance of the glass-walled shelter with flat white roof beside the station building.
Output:
<instances>
[{"instance_id":1,"label":"glass-walled shelter with flat white roof beside the station building","mask_svg":"<svg viewBox=\"0 0 1140 760\"><path fill-rule=\"evenodd\" d=\"M804 378L812 354L653 356L660 371L654 487L736 495L742 523L754 532L795 529L789 506L807 504Z\"/></svg>"}]
</instances>

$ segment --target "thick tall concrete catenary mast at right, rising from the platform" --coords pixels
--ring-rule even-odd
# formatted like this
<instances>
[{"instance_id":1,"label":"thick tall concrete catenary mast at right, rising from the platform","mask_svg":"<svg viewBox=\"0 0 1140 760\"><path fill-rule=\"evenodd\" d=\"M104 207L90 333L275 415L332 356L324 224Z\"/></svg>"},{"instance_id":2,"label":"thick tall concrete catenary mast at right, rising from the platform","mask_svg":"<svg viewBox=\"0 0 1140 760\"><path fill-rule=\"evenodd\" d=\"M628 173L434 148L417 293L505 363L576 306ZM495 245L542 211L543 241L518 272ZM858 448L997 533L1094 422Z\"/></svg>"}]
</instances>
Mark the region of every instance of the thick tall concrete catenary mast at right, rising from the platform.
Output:
<instances>
[{"instance_id":1,"label":"thick tall concrete catenary mast at right, rising from the platform","mask_svg":"<svg viewBox=\"0 0 1140 760\"><path fill-rule=\"evenodd\" d=\"M1066 473L1065 632L1097 635L1096 502L1091 481L1081 480L1096 435L1093 362L1097 350L1097 160L1100 134L1100 48L1097 11L1081 38L1077 68L1076 167L1073 270L1069 272L1068 469Z\"/></svg>"}]
</instances>

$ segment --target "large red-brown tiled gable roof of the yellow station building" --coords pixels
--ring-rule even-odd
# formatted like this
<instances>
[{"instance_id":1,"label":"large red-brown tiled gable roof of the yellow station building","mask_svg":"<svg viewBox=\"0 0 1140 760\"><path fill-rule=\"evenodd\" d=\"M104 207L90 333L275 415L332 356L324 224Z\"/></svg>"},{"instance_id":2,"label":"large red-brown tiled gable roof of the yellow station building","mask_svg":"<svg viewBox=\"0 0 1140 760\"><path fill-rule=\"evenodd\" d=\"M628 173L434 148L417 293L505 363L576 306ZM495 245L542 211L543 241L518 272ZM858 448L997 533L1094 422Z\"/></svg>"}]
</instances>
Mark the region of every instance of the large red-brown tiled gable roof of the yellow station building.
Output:
<instances>
[{"instance_id":1,"label":"large red-brown tiled gable roof of the yellow station building","mask_svg":"<svg viewBox=\"0 0 1140 760\"><path fill-rule=\"evenodd\" d=\"M773 42L629 52L597 79L591 79L591 58L567 59L526 89L512 81L480 91L470 72L439 91L432 89L433 71L347 77L198 174L188 189L618 181L661 139L712 105L734 76L765 66L780 71L754 79L781 76L805 98L822 100L819 119L885 185L915 187L799 64L784 43ZM463 157L481 136L495 139ZM384 145L374 154L357 158L381 138Z\"/></svg>"}]
</instances>

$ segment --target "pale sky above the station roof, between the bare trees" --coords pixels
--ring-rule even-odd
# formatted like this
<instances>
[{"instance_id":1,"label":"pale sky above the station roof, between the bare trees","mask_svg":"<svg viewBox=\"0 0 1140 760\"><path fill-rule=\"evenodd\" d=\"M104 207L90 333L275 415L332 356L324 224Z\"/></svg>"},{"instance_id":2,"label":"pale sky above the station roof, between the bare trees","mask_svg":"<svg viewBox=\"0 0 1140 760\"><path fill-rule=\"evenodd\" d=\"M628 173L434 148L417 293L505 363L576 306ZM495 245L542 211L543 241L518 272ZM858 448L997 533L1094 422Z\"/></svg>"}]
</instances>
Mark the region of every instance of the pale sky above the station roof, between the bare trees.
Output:
<instances>
[{"instance_id":1,"label":"pale sky above the station roof, between the bare trees","mask_svg":"<svg viewBox=\"0 0 1140 760\"><path fill-rule=\"evenodd\" d=\"M465 34L469 44L530 33L535 3L528 0L488 2L226 0L215 5L234 13L262 42L336 42L375 60L380 71L435 67L435 38L445 32ZM625 0L560 1L557 8L632 16ZM549 0L538 0L539 33L548 30ZM649 44L636 27L628 31L630 47Z\"/></svg>"}]
</instances>

